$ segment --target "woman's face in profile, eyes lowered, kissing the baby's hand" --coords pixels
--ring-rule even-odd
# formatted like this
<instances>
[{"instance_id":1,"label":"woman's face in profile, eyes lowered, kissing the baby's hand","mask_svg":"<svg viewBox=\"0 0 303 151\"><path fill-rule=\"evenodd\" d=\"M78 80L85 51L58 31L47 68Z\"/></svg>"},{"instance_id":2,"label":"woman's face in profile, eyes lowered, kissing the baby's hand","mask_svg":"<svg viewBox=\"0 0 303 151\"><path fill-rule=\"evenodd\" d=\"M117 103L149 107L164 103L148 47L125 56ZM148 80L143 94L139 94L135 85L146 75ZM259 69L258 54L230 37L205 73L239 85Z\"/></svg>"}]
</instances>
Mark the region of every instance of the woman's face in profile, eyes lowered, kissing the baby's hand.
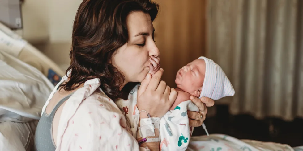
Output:
<instances>
[{"instance_id":1,"label":"woman's face in profile, eyes lowered, kissing the baby's hand","mask_svg":"<svg viewBox=\"0 0 303 151\"><path fill-rule=\"evenodd\" d=\"M125 76L124 84L142 82L150 70L149 58L159 56L154 27L150 15L141 11L130 13L126 23L129 41L117 50L111 62Z\"/></svg>"}]
</instances>

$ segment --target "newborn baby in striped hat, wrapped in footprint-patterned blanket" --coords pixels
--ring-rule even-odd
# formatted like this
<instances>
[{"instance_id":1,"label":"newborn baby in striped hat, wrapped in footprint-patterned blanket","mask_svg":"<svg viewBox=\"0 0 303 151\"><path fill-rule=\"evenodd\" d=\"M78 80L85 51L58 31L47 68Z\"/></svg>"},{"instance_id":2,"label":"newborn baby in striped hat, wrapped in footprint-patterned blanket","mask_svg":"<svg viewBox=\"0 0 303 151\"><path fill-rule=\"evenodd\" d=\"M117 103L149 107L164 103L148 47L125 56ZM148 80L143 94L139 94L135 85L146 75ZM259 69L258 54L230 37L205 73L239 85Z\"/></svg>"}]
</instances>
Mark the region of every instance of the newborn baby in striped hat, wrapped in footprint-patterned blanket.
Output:
<instances>
[{"instance_id":1,"label":"newborn baby in striped hat, wrapped in footprint-patterned blanket","mask_svg":"<svg viewBox=\"0 0 303 151\"><path fill-rule=\"evenodd\" d=\"M158 58L151 58L151 66L154 69L160 68ZM153 73L155 70L151 70ZM156 71L155 71L156 72ZM218 100L225 96L233 96L234 89L224 71L211 59L200 57L177 72L176 80L178 96L171 110L162 118L152 118L155 129L160 132L160 150L186 150L192 128L189 126L187 110L198 112L199 108L190 100L194 95L199 98L208 97ZM135 116L139 110L137 104L137 91L139 85L133 88L128 100L117 100L118 107L125 112L129 119L134 137L137 137L138 123ZM144 119L141 119L144 120ZM142 123L141 123L142 124ZM142 126L142 125L141 125ZM159 141L159 138L149 138L150 141Z\"/></svg>"}]
</instances>

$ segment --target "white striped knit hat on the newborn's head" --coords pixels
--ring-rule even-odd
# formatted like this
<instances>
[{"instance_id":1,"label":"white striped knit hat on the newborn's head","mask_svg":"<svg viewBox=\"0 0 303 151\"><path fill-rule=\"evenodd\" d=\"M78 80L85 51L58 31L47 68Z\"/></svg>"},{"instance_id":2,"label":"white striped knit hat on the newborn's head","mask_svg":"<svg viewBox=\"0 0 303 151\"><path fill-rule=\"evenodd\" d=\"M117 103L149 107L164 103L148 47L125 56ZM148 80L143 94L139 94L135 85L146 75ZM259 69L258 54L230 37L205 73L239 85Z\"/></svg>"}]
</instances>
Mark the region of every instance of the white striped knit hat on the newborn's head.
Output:
<instances>
[{"instance_id":1,"label":"white striped knit hat on the newborn's head","mask_svg":"<svg viewBox=\"0 0 303 151\"><path fill-rule=\"evenodd\" d=\"M205 78L200 97L208 97L213 100L219 100L225 96L233 96L235 90L228 80L222 68L206 57L199 57L206 64Z\"/></svg>"}]
</instances>

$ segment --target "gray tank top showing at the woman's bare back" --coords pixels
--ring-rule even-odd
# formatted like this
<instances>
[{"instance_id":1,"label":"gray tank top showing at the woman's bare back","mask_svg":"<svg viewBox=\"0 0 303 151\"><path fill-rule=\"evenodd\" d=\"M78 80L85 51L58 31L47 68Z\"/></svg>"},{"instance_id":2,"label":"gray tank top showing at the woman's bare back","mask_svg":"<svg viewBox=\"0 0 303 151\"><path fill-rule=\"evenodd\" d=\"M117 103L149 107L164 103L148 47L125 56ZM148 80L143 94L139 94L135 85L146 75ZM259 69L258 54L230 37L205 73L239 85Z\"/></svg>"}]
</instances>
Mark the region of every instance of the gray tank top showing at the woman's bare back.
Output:
<instances>
[{"instance_id":1,"label":"gray tank top showing at the woman's bare back","mask_svg":"<svg viewBox=\"0 0 303 151\"><path fill-rule=\"evenodd\" d=\"M53 118L58 108L73 94L74 92L60 100L49 114L46 114L46 110L42 114L35 133L36 151L54 151L56 149L53 140Z\"/></svg>"}]
</instances>

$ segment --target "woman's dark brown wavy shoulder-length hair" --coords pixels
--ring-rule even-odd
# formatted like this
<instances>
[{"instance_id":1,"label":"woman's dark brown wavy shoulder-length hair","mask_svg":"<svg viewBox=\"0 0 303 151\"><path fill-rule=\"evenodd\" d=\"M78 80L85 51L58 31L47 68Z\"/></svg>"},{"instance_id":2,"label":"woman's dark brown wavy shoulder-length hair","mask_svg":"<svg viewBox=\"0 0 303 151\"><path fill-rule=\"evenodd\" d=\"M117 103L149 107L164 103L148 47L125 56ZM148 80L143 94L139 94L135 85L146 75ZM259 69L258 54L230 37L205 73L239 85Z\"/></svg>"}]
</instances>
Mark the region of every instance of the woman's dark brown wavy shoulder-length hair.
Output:
<instances>
[{"instance_id":1,"label":"woman's dark brown wavy shoulder-length hair","mask_svg":"<svg viewBox=\"0 0 303 151\"><path fill-rule=\"evenodd\" d=\"M99 78L100 88L116 100L125 77L110 60L128 41L126 17L136 11L148 13L152 21L159 6L151 0L84 0L76 13L69 80L60 88L71 91L89 79Z\"/></svg>"}]
</instances>

